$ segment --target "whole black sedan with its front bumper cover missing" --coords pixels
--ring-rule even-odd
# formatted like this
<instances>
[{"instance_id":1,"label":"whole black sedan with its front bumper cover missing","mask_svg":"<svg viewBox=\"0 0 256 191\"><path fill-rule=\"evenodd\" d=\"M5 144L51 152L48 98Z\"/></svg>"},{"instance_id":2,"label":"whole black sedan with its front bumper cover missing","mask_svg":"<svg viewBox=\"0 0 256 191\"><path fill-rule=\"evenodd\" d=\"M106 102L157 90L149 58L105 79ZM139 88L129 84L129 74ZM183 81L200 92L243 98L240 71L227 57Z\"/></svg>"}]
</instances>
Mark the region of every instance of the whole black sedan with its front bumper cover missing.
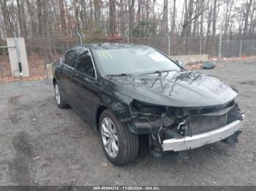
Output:
<instances>
[{"instance_id":1,"label":"whole black sedan with its front bumper cover missing","mask_svg":"<svg viewBox=\"0 0 256 191\"><path fill-rule=\"evenodd\" d=\"M89 122L114 165L135 160L139 135L151 152L179 152L236 138L244 119L235 88L143 45L73 47L53 64L53 86L56 104Z\"/></svg>"}]
</instances>

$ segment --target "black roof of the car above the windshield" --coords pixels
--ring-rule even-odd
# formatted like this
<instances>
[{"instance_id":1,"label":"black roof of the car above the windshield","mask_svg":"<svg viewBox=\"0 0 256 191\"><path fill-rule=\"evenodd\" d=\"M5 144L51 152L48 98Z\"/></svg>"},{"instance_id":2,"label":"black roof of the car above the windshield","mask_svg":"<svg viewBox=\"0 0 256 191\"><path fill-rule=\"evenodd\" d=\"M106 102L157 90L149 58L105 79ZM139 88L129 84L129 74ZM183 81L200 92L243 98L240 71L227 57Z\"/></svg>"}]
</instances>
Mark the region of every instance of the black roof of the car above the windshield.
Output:
<instances>
[{"instance_id":1,"label":"black roof of the car above the windshield","mask_svg":"<svg viewBox=\"0 0 256 191\"><path fill-rule=\"evenodd\" d=\"M127 43L91 43L91 44L83 44L77 47L86 47L93 50L106 50L106 49L121 49L121 48L145 48L148 47L146 45L140 44L127 44Z\"/></svg>"}]
</instances>

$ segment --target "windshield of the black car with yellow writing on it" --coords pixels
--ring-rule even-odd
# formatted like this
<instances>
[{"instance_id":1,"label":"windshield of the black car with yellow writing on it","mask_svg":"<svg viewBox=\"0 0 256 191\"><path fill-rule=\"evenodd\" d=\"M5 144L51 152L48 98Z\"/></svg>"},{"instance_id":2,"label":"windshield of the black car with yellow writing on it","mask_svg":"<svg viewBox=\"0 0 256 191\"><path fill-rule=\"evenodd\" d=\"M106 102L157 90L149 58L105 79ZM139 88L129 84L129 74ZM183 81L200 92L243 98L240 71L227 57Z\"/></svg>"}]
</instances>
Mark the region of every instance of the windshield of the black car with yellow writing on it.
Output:
<instances>
[{"instance_id":1,"label":"windshield of the black car with yellow writing on it","mask_svg":"<svg viewBox=\"0 0 256 191\"><path fill-rule=\"evenodd\" d=\"M176 63L151 47L96 50L95 52L101 68L107 75L181 70Z\"/></svg>"}]
</instances>

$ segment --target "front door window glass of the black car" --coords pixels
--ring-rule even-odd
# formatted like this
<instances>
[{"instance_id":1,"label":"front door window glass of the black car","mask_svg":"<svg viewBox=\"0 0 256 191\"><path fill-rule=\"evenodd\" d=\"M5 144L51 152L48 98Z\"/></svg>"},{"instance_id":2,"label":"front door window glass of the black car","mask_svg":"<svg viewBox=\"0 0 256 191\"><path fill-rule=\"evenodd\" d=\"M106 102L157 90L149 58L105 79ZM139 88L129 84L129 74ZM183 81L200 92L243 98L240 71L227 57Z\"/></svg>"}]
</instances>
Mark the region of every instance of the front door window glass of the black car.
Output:
<instances>
[{"instance_id":1,"label":"front door window glass of the black car","mask_svg":"<svg viewBox=\"0 0 256 191\"><path fill-rule=\"evenodd\" d=\"M95 77L94 65L91 61L91 55L88 50L82 50L78 56L76 70L89 77Z\"/></svg>"}]
</instances>

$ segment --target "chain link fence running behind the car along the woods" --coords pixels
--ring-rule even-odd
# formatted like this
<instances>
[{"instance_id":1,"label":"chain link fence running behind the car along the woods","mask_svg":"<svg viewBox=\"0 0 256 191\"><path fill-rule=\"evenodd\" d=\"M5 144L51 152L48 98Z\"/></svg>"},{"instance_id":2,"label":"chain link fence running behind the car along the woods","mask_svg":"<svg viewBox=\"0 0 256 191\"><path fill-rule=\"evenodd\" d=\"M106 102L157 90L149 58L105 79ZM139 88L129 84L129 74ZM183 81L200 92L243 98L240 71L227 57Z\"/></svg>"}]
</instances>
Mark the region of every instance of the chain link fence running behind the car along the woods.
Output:
<instances>
[{"instance_id":1,"label":"chain link fence running behind the car along the woods","mask_svg":"<svg viewBox=\"0 0 256 191\"><path fill-rule=\"evenodd\" d=\"M80 44L79 36L36 36L25 38L29 69L32 75L45 72L46 64L52 63L69 47ZM208 54L211 58L228 58L256 55L256 36L250 39L231 39L229 36L83 36L83 43L129 42L156 47L166 55ZM0 40L0 47L6 45ZM7 49L0 48L0 77L11 75ZM5 72L8 70L8 72ZM4 73L4 74L3 74Z\"/></svg>"}]
</instances>

